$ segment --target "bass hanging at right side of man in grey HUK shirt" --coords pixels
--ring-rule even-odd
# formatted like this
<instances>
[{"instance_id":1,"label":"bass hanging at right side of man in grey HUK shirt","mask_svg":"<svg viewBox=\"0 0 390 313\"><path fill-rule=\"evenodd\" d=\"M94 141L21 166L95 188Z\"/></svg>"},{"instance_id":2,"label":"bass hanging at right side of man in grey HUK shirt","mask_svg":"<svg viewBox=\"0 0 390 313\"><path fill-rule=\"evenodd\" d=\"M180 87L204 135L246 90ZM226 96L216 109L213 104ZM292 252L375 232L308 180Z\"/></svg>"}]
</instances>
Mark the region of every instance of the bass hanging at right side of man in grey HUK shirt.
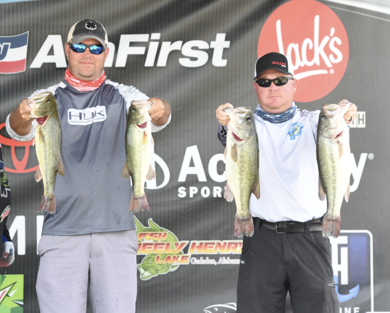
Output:
<instances>
[{"instance_id":1,"label":"bass hanging at right side of man in grey HUK shirt","mask_svg":"<svg viewBox=\"0 0 390 313\"><path fill-rule=\"evenodd\" d=\"M149 211L144 185L145 180L152 180L156 174L150 165L152 146L152 129L149 101L132 101L128 109L124 146L126 161L122 169L122 178L132 177L133 194L128 212Z\"/></svg>"}]
</instances>

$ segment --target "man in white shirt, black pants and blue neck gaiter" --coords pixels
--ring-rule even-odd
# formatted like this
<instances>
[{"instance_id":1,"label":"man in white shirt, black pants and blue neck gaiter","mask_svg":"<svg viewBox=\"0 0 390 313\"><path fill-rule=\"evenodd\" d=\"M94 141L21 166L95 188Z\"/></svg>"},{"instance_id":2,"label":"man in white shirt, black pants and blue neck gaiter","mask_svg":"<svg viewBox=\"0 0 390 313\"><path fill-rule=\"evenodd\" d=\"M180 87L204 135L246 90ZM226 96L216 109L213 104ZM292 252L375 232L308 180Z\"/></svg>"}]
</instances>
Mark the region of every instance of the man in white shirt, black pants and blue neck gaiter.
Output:
<instances>
[{"instance_id":1,"label":"man in white shirt, black pants and blue neck gaiter","mask_svg":"<svg viewBox=\"0 0 390 313\"><path fill-rule=\"evenodd\" d=\"M243 240L237 312L283 313L288 291L296 313L336 313L330 244L321 233L327 205L318 198L320 111L297 109L293 96L298 81L282 54L260 57L254 79L261 197L252 195L250 200L255 231ZM230 120L226 107L233 108L225 103L216 110L218 138L224 146ZM344 119L351 123L356 115L351 104Z\"/></svg>"}]
</instances>

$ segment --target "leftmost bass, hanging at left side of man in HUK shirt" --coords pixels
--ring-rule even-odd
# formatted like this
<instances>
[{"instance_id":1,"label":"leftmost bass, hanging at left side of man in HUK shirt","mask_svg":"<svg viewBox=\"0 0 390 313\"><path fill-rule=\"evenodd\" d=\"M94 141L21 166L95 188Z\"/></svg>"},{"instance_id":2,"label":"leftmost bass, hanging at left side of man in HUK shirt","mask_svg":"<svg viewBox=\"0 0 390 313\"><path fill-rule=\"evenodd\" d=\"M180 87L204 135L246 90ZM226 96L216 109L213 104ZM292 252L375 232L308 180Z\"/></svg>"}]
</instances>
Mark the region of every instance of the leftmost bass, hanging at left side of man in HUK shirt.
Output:
<instances>
[{"instance_id":1,"label":"leftmost bass, hanging at left side of man in HUK shirt","mask_svg":"<svg viewBox=\"0 0 390 313\"><path fill-rule=\"evenodd\" d=\"M57 102L51 92L40 93L28 100L30 118L36 119L35 137L39 167L35 180L43 180L44 193L38 212L55 213L54 186L57 173L64 176L61 158L62 131Z\"/></svg>"}]
</instances>

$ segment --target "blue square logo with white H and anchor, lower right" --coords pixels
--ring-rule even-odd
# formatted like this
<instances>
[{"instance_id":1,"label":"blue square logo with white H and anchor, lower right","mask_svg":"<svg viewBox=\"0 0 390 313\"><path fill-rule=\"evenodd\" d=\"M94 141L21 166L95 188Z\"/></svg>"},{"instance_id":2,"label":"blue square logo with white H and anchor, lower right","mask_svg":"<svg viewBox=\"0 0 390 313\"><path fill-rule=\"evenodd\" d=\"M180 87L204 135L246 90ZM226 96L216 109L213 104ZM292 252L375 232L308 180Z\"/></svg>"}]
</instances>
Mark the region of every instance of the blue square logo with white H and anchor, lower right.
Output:
<instances>
[{"instance_id":1,"label":"blue square logo with white H and anchor, lower right","mask_svg":"<svg viewBox=\"0 0 390 313\"><path fill-rule=\"evenodd\" d=\"M330 238L334 280L340 311L373 312L372 234L368 230L341 230ZM344 308L343 308L344 307Z\"/></svg>"}]
</instances>

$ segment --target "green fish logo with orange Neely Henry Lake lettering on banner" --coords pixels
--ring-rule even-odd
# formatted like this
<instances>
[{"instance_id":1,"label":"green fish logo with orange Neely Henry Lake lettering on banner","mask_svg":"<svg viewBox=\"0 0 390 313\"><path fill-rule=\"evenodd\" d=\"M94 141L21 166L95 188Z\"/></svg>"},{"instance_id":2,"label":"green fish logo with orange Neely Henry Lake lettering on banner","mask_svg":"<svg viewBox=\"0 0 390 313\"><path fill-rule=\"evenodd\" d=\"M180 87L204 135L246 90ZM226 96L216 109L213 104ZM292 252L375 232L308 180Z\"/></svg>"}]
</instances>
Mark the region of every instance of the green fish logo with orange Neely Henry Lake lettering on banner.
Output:
<instances>
[{"instance_id":1,"label":"green fish logo with orange Neely Henry Lake lettering on banner","mask_svg":"<svg viewBox=\"0 0 390 313\"><path fill-rule=\"evenodd\" d=\"M176 235L166 228L160 227L152 219L148 227L134 217L137 226L138 255L145 255L138 270L143 281L152 277L175 271L180 265L232 265L239 264L240 259L230 257L214 258L192 255L241 254L242 240L179 240ZM188 246L187 253L184 249Z\"/></svg>"}]
</instances>

